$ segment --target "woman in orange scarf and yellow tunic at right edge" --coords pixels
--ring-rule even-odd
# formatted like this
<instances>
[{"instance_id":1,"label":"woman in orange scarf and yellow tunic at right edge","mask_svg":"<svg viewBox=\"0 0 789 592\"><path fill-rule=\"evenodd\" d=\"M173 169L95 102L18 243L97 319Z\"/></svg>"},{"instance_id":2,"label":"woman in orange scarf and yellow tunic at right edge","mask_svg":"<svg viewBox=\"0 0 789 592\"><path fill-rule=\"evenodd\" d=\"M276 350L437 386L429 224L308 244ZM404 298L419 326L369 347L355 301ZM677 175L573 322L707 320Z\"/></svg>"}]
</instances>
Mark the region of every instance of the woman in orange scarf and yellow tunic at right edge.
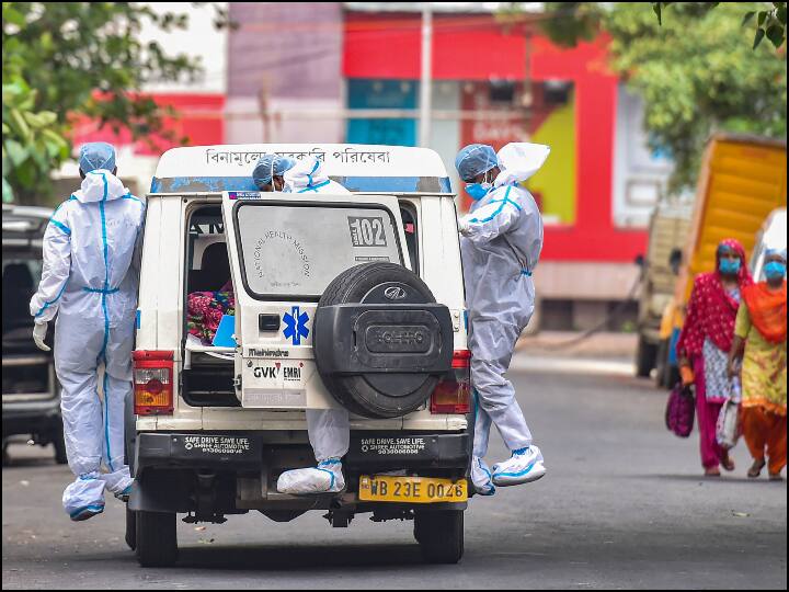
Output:
<instances>
[{"instance_id":1,"label":"woman in orange scarf and yellow tunic at right edge","mask_svg":"<svg viewBox=\"0 0 789 592\"><path fill-rule=\"evenodd\" d=\"M742 363L742 428L753 465L747 476L762 473L765 449L770 480L782 479L787 440L787 284L786 249L765 253L766 282L743 291L745 306L740 307L734 328L734 344L729 354L729 375Z\"/></svg>"}]
</instances>

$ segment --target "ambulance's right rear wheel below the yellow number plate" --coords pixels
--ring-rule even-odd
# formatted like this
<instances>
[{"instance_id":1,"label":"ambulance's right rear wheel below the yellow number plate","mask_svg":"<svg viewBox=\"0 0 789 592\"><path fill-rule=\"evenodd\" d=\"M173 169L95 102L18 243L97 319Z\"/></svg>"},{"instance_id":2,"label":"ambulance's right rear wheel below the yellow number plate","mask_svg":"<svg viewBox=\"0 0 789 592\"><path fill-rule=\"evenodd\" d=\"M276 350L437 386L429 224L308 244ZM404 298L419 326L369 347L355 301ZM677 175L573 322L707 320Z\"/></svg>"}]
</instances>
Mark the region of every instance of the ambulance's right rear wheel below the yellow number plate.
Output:
<instances>
[{"instance_id":1,"label":"ambulance's right rear wheel below the yellow number plate","mask_svg":"<svg viewBox=\"0 0 789 592\"><path fill-rule=\"evenodd\" d=\"M414 538L428 563L457 563L464 554L464 511L418 512Z\"/></svg>"}]
</instances>

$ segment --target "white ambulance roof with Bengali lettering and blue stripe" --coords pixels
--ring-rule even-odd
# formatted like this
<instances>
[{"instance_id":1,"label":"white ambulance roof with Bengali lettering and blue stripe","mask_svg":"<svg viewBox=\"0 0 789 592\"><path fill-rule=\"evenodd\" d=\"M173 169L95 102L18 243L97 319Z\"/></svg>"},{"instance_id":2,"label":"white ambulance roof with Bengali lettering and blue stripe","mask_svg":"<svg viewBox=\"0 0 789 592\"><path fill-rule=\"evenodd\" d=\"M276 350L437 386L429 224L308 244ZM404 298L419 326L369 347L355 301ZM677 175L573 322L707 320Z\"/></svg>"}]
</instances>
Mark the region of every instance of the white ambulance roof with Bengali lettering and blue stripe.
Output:
<instances>
[{"instance_id":1,"label":"white ambulance roof with Bengali lettering and blue stripe","mask_svg":"<svg viewBox=\"0 0 789 592\"><path fill-rule=\"evenodd\" d=\"M151 193L256 191L252 170L275 152L313 156L353 192L451 193L441 157L428 148L366 144L243 144L172 148L159 159Z\"/></svg>"}]
</instances>

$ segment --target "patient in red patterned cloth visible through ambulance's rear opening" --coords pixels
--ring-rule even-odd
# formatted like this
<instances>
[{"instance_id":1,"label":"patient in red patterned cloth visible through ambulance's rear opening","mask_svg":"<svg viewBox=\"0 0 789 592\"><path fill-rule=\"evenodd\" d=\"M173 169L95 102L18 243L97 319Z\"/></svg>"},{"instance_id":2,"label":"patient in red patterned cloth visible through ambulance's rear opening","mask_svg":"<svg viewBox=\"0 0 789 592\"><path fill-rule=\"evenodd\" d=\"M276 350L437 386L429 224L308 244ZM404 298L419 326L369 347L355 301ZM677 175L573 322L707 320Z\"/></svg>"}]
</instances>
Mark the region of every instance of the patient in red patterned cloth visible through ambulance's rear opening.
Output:
<instances>
[{"instance_id":1,"label":"patient in red patterned cloth visible through ambulance's rear opening","mask_svg":"<svg viewBox=\"0 0 789 592\"><path fill-rule=\"evenodd\" d=\"M210 346L225 315L236 315L236 296L230 280L227 244L205 248L199 269L192 270L186 296L186 342Z\"/></svg>"}]
</instances>

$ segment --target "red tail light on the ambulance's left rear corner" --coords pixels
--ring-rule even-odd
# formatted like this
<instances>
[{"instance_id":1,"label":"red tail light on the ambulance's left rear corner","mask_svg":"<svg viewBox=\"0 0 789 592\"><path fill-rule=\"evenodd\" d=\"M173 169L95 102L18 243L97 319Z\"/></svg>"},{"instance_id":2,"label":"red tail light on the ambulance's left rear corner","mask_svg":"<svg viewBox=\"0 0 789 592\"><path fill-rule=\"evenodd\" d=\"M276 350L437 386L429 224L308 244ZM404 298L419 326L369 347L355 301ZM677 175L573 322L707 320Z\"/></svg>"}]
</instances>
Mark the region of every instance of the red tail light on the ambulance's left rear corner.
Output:
<instances>
[{"instance_id":1,"label":"red tail light on the ambulance's left rear corner","mask_svg":"<svg viewBox=\"0 0 789 592\"><path fill-rule=\"evenodd\" d=\"M134 353L135 414L169 415L173 412L173 352Z\"/></svg>"}]
</instances>

